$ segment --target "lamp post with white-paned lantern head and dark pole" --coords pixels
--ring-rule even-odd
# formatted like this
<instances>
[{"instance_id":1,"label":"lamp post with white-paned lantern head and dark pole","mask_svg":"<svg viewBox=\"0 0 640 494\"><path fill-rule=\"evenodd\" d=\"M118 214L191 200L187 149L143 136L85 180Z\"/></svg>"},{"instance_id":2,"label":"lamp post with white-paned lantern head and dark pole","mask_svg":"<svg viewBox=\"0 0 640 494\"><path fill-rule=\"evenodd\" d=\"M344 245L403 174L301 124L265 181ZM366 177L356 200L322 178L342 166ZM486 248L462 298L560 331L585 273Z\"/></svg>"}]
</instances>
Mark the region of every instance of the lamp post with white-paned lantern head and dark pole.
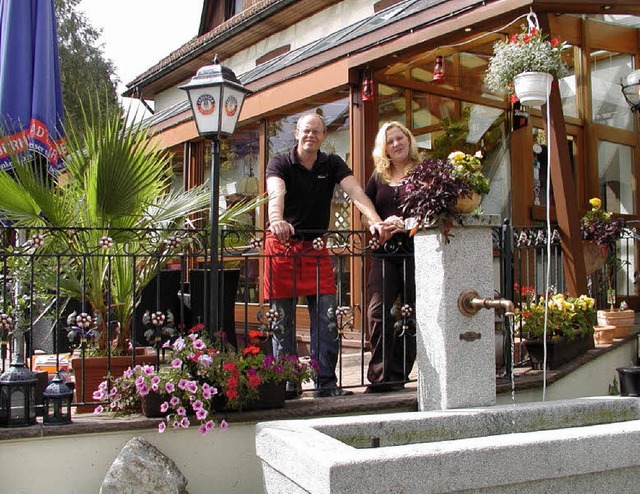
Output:
<instances>
[{"instance_id":1,"label":"lamp post with white-paned lantern head and dark pole","mask_svg":"<svg viewBox=\"0 0 640 494\"><path fill-rule=\"evenodd\" d=\"M209 301L209 335L218 325L218 208L220 199L220 139L230 137L238 123L242 103L250 93L233 71L220 65L218 55L212 65L198 70L187 92L198 134L211 140L211 273Z\"/></svg>"}]
</instances>

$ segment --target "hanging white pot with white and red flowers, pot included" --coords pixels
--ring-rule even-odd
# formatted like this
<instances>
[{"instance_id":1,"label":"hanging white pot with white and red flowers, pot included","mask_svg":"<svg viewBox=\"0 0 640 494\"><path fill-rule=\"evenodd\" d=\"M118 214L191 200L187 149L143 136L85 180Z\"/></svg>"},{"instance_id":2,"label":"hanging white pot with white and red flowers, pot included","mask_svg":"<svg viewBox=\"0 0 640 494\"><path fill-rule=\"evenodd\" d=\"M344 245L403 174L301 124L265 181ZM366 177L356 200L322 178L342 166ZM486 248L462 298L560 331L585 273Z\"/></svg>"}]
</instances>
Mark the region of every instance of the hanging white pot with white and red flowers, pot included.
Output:
<instances>
[{"instance_id":1,"label":"hanging white pot with white and red flowers, pot included","mask_svg":"<svg viewBox=\"0 0 640 494\"><path fill-rule=\"evenodd\" d=\"M523 105L540 106L546 102L553 78L563 77L567 68L562 53L566 42L548 39L535 22L522 26L519 34L493 45L485 83L494 92L515 92Z\"/></svg>"}]
</instances>

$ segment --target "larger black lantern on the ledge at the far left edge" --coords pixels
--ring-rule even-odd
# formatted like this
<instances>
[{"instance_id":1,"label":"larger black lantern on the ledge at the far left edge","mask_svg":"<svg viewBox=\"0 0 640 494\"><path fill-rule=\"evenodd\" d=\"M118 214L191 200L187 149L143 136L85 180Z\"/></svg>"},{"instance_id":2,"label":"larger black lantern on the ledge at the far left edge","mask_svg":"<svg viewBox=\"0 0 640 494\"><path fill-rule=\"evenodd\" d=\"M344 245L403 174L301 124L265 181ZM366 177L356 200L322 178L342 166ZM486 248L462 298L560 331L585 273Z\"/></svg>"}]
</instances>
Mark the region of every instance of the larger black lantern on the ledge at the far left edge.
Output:
<instances>
[{"instance_id":1,"label":"larger black lantern on the ledge at the far left edge","mask_svg":"<svg viewBox=\"0 0 640 494\"><path fill-rule=\"evenodd\" d=\"M9 370L0 376L0 427L36 423L36 381L18 353Z\"/></svg>"}]
</instances>

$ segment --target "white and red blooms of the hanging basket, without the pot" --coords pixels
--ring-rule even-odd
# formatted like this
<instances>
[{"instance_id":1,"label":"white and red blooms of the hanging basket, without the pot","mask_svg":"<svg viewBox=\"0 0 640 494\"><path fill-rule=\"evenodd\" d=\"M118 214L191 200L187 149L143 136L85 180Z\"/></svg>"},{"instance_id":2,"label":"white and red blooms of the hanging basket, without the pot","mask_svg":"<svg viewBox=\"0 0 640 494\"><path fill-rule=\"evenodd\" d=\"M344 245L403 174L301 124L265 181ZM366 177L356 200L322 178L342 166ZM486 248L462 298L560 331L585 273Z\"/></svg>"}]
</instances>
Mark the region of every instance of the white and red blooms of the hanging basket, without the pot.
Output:
<instances>
[{"instance_id":1,"label":"white and red blooms of the hanging basket, without the pot","mask_svg":"<svg viewBox=\"0 0 640 494\"><path fill-rule=\"evenodd\" d=\"M485 84L498 93L513 92L513 80L523 72L545 72L559 78L567 73L562 53L568 49L558 37L548 39L537 27L522 25L522 32L493 45Z\"/></svg>"}]
</instances>

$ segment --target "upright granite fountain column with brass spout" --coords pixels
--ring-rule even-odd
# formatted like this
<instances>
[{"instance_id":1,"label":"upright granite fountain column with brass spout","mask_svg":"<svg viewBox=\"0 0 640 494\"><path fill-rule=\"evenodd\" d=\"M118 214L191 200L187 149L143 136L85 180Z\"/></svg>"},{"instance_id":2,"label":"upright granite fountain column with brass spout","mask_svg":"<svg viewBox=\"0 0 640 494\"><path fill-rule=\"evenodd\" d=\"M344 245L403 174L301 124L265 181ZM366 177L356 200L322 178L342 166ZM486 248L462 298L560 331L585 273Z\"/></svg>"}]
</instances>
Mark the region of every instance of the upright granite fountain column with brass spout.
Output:
<instances>
[{"instance_id":1,"label":"upright granite fountain column with brass spout","mask_svg":"<svg viewBox=\"0 0 640 494\"><path fill-rule=\"evenodd\" d=\"M495 215L469 215L447 244L436 228L415 237L418 407L421 411L495 405L494 311L458 308L473 289L493 298Z\"/></svg>"}]
</instances>

